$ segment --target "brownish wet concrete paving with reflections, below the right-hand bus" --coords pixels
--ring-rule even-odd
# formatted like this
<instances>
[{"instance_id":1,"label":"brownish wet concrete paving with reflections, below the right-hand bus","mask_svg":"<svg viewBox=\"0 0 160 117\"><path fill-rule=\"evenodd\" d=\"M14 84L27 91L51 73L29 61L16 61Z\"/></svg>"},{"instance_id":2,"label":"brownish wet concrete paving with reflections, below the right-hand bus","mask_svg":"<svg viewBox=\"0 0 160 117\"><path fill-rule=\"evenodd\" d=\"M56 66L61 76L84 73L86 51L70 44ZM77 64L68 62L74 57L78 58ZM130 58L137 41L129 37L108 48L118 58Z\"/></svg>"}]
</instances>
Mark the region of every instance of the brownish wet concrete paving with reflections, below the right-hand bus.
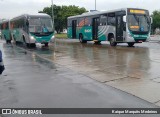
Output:
<instances>
[{"instance_id":1,"label":"brownish wet concrete paving with reflections, below the right-hand bus","mask_svg":"<svg viewBox=\"0 0 160 117\"><path fill-rule=\"evenodd\" d=\"M160 102L160 43L110 47L107 42L80 44L56 40L49 48L29 49L50 61L131 93L149 102ZM38 59L36 59L38 60ZM159 105L160 106L160 105Z\"/></svg>"}]
</instances>

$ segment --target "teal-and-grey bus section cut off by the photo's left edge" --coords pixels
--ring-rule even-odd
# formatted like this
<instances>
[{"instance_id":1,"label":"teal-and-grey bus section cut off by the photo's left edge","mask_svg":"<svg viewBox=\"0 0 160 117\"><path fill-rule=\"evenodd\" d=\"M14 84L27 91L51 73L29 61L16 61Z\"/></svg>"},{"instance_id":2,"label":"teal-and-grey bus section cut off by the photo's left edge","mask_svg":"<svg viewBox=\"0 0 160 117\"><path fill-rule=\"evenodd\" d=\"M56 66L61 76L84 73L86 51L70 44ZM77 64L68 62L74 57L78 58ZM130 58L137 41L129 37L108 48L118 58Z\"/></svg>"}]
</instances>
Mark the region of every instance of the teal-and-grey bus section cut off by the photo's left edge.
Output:
<instances>
[{"instance_id":1,"label":"teal-and-grey bus section cut off by the photo's left edge","mask_svg":"<svg viewBox=\"0 0 160 117\"><path fill-rule=\"evenodd\" d=\"M9 20L5 20L0 23L1 37L6 40L6 43L11 43L11 33L9 25Z\"/></svg>"}]
</instances>

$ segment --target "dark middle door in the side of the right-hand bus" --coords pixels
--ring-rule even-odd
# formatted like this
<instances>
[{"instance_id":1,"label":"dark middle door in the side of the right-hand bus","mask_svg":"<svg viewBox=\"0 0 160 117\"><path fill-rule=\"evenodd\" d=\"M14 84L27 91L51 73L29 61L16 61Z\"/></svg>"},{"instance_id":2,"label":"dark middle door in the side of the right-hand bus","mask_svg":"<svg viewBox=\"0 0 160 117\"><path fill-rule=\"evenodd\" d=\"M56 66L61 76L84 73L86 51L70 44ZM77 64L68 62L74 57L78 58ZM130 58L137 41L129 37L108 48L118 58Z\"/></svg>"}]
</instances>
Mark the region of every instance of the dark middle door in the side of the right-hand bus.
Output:
<instances>
[{"instance_id":1,"label":"dark middle door in the side of the right-hand bus","mask_svg":"<svg viewBox=\"0 0 160 117\"><path fill-rule=\"evenodd\" d=\"M93 18L93 21L92 21L92 39L93 40L98 40L98 23L99 23L99 18Z\"/></svg>"}]
</instances>

